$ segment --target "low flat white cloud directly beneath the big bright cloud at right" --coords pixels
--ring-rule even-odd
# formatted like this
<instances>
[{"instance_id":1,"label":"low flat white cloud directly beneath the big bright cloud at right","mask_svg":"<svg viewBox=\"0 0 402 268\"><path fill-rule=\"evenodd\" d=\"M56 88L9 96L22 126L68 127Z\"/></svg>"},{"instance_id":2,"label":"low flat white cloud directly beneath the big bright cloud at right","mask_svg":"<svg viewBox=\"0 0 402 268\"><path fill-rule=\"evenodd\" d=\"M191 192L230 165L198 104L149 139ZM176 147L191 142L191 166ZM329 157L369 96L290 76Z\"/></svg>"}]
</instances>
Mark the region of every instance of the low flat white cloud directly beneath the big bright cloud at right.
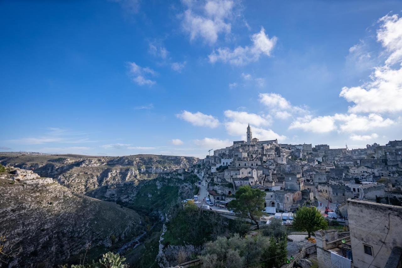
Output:
<instances>
[{"instance_id":1,"label":"low flat white cloud directly beneath the big bright cloud at right","mask_svg":"<svg viewBox=\"0 0 402 268\"><path fill-rule=\"evenodd\" d=\"M384 128L395 123L389 118L382 118L379 114L369 114L368 116L335 114L333 118L334 120L344 122L339 126L341 132L367 131L375 128Z\"/></svg>"}]
</instances>

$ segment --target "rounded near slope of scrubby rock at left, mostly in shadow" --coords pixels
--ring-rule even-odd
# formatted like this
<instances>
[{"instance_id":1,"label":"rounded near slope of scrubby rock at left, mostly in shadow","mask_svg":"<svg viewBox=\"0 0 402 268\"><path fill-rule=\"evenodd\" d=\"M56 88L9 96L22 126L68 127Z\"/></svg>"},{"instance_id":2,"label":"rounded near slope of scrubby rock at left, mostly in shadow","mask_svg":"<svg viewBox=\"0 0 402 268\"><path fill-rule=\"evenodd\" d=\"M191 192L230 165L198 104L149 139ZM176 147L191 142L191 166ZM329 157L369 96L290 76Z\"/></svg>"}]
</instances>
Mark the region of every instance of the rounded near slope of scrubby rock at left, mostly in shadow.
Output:
<instances>
[{"instance_id":1,"label":"rounded near slope of scrubby rock at left, mostly in shadow","mask_svg":"<svg viewBox=\"0 0 402 268\"><path fill-rule=\"evenodd\" d=\"M131 209L10 166L0 173L0 226L3 246L19 252L3 264L8 267L53 267L86 248L106 250L145 229Z\"/></svg>"}]
</instances>

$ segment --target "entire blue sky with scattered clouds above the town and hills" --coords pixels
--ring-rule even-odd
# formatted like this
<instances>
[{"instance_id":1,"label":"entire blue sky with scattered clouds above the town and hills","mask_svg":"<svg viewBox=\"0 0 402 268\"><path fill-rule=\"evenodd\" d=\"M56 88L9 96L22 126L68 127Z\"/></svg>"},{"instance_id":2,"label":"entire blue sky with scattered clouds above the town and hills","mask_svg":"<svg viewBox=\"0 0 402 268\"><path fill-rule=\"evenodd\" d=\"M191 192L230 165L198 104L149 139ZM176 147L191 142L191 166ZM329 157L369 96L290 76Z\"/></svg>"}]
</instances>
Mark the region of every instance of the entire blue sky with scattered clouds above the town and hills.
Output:
<instances>
[{"instance_id":1,"label":"entire blue sky with scattered clouds above the town and hills","mask_svg":"<svg viewBox=\"0 0 402 268\"><path fill-rule=\"evenodd\" d=\"M2 151L401 139L400 1L2 1Z\"/></svg>"}]
</instances>

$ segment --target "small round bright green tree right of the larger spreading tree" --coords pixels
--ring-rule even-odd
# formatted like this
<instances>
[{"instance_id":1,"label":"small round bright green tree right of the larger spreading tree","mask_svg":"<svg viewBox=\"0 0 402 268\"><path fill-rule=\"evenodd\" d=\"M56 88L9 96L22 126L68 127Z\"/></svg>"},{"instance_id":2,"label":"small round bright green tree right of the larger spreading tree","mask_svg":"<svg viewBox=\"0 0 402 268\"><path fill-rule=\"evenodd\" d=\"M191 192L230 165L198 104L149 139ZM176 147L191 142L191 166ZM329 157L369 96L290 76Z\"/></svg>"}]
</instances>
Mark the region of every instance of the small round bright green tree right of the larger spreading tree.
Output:
<instances>
[{"instance_id":1,"label":"small round bright green tree right of the larger spreading tree","mask_svg":"<svg viewBox=\"0 0 402 268\"><path fill-rule=\"evenodd\" d=\"M328 223L316 207L301 207L293 217L293 227L298 231L307 231L308 237L319 229L327 229Z\"/></svg>"}]
</instances>

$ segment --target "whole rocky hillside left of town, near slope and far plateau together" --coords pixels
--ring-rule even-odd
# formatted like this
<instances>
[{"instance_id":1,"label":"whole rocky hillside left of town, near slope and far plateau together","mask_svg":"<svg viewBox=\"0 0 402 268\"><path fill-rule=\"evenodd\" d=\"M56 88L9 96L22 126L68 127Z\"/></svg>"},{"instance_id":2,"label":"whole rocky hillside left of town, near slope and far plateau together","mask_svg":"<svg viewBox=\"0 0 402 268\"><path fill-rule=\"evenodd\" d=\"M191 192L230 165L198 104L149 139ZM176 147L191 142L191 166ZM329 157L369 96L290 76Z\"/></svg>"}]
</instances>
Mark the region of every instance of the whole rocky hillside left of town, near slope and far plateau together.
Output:
<instances>
[{"instance_id":1,"label":"whole rocky hillside left of town, near slope and far plateau together","mask_svg":"<svg viewBox=\"0 0 402 268\"><path fill-rule=\"evenodd\" d=\"M130 241L138 236L150 240L170 208L193 195L198 178L186 170L197 160L0 154L7 166L0 176L0 225L8 243L22 249L10 267L74 263L87 247L97 258L127 242L135 246L140 241ZM141 258L137 251L125 253L131 264Z\"/></svg>"}]
</instances>

